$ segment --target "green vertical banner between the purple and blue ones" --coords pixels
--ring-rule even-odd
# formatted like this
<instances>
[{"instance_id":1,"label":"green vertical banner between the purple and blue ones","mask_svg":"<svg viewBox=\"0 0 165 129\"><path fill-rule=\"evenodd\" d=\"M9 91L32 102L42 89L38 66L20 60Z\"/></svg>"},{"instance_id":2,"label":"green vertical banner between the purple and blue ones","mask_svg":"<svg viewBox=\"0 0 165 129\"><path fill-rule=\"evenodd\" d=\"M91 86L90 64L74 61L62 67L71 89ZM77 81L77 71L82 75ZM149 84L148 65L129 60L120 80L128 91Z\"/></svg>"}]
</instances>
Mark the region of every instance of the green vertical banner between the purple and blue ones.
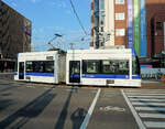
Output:
<instances>
[{"instance_id":1,"label":"green vertical banner between the purple and blue ones","mask_svg":"<svg viewBox=\"0 0 165 129\"><path fill-rule=\"evenodd\" d=\"M133 1L133 21L134 21L134 49L136 55L140 55L140 6L139 0Z\"/></svg>"}]
</instances>

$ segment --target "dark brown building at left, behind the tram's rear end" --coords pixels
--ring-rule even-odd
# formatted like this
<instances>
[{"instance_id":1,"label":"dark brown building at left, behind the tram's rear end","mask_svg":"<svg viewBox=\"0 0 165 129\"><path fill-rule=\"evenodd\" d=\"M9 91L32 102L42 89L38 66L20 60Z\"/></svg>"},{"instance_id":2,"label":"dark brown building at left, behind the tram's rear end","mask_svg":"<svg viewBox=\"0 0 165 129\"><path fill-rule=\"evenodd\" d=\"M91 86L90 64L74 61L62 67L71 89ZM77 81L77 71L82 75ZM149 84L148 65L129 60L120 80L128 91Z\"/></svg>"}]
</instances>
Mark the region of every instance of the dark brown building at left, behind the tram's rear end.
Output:
<instances>
[{"instance_id":1,"label":"dark brown building at left, behind the tram's rear end","mask_svg":"<svg viewBox=\"0 0 165 129\"><path fill-rule=\"evenodd\" d=\"M31 51L31 21L0 0L0 65Z\"/></svg>"}]
</instances>

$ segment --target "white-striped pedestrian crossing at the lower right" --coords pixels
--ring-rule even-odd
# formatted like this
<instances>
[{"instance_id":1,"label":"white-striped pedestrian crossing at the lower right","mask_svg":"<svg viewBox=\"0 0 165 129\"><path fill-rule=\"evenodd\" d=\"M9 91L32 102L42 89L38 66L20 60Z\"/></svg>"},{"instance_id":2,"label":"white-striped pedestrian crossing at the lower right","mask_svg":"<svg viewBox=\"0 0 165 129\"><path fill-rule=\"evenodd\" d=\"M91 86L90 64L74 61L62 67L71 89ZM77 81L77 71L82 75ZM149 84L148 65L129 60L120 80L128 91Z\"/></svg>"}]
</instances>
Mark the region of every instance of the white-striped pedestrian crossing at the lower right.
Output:
<instances>
[{"instance_id":1,"label":"white-striped pedestrian crossing at the lower right","mask_svg":"<svg viewBox=\"0 0 165 129\"><path fill-rule=\"evenodd\" d=\"M165 89L121 90L140 129L165 129Z\"/></svg>"}]
</instances>

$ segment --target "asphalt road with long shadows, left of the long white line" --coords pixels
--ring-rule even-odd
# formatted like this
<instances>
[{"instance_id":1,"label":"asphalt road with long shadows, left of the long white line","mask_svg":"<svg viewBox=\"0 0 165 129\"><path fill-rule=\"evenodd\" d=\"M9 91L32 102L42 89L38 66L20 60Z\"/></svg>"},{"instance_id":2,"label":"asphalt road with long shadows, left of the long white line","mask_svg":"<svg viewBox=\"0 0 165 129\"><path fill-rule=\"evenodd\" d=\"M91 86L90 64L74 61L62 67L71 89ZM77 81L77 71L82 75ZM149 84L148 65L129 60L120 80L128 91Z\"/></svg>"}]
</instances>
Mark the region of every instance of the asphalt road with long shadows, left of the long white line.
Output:
<instances>
[{"instance_id":1,"label":"asphalt road with long shadows, left of the long white line","mask_svg":"<svg viewBox=\"0 0 165 129\"><path fill-rule=\"evenodd\" d=\"M97 89L0 82L0 129L78 129Z\"/></svg>"}]
</instances>

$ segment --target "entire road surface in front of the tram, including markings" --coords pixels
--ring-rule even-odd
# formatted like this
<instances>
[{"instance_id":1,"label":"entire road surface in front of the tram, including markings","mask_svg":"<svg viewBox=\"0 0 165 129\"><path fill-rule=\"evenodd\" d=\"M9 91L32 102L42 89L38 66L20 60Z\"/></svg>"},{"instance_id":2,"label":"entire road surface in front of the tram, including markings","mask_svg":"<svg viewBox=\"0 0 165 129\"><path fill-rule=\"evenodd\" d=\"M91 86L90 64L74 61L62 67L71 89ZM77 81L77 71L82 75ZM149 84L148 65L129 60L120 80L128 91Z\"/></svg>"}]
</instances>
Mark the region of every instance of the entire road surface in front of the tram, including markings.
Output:
<instances>
[{"instance_id":1,"label":"entire road surface in front of the tram, including markings","mask_svg":"<svg viewBox=\"0 0 165 129\"><path fill-rule=\"evenodd\" d=\"M165 128L165 89L152 92L0 79L0 129Z\"/></svg>"}]
</instances>

